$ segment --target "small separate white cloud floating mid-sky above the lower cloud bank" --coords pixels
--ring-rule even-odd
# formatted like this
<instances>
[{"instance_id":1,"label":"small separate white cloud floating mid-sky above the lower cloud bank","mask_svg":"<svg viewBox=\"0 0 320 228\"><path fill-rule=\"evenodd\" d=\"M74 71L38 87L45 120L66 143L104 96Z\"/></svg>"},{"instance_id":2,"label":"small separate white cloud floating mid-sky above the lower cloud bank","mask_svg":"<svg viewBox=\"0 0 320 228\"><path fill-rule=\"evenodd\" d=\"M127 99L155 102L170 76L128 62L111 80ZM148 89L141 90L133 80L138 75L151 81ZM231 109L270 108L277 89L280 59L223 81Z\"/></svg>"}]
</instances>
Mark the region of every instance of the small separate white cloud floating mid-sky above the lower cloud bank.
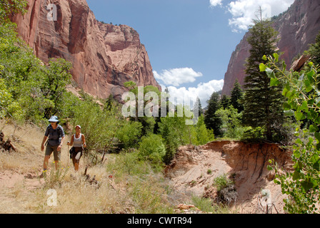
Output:
<instances>
[{"instance_id":1,"label":"small separate white cloud floating mid-sky above the lower cloud bank","mask_svg":"<svg viewBox=\"0 0 320 228\"><path fill-rule=\"evenodd\" d=\"M192 68L174 68L164 70L161 73L154 71L154 78L162 81L166 86L180 86L183 83L193 83L196 81L196 78L201 76L201 72L196 72Z\"/></svg>"}]
</instances>

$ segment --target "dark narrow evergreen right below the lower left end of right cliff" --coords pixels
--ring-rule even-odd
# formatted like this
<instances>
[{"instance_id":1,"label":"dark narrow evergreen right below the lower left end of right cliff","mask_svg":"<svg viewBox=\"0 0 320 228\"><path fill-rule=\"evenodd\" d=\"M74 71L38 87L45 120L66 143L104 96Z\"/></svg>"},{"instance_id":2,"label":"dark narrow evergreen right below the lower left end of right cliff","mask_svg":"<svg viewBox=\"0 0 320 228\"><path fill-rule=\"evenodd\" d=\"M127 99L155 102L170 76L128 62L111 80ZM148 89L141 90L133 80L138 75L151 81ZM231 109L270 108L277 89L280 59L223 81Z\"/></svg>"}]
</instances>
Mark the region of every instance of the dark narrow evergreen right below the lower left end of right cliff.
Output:
<instances>
[{"instance_id":1,"label":"dark narrow evergreen right below the lower left end of right cliff","mask_svg":"<svg viewBox=\"0 0 320 228\"><path fill-rule=\"evenodd\" d=\"M221 125L222 120L219 115L216 115L216 111L220 108L220 95L217 92L212 93L210 99L207 101L208 110L204 115L204 123L206 124L206 128L214 130L215 136L221 136Z\"/></svg>"}]
</instances>

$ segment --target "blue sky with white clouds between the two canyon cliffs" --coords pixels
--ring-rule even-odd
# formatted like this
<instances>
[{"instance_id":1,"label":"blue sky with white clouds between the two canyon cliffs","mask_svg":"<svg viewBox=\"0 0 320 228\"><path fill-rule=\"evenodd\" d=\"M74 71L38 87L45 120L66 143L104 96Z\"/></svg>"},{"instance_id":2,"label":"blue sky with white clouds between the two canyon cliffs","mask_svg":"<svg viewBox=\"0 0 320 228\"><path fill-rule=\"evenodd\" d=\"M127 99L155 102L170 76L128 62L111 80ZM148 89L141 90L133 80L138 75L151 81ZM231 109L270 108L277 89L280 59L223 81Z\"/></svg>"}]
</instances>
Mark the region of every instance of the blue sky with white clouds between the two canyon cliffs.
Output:
<instances>
[{"instance_id":1,"label":"blue sky with white clouds between the two canyon cliffs","mask_svg":"<svg viewBox=\"0 0 320 228\"><path fill-rule=\"evenodd\" d=\"M220 90L231 53L259 6L266 16L294 0L86 0L96 19L126 24L146 46L156 80L171 96ZM179 102L179 100L178 100Z\"/></svg>"}]
</instances>

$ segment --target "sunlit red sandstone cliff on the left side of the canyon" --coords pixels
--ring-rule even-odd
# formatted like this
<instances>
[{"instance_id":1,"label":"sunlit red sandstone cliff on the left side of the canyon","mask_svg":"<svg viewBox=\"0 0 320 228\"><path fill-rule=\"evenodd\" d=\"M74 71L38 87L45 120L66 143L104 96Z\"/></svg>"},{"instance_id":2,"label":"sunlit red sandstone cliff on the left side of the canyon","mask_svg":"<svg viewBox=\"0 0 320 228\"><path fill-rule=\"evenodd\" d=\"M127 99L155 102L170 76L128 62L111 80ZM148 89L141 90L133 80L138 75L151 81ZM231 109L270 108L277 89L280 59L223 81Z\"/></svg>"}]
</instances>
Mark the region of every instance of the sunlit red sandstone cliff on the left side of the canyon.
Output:
<instances>
[{"instance_id":1,"label":"sunlit red sandstone cliff on the left side of the canyon","mask_svg":"<svg viewBox=\"0 0 320 228\"><path fill-rule=\"evenodd\" d=\"M99 98L113 95L118 100L126 91L126 81L160 89L146 48L133 28L97 21L86 0L28 1L27 13L12 19L19 35L44 63L50 58L70 61L79 88ZM47 9L48 4L56 10ZM48 14L49 19L56 16L56 21L48 20Z\"/></svg>"}]
</instances>

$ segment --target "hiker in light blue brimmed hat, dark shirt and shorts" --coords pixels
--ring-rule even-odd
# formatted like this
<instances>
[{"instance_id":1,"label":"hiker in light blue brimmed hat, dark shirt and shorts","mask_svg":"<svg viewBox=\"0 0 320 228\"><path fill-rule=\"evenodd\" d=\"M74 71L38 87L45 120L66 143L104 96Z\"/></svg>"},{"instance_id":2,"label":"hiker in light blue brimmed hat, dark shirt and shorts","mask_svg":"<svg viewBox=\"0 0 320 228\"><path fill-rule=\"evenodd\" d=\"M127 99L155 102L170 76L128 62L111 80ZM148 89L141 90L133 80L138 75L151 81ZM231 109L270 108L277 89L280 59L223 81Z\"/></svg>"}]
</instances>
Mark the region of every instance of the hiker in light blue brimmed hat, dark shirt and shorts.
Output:
<instances>
[{"instance_id":1,"label":"hiker in light blue brimmed hat, dark shirt and shorts","mask_svg":"<svg viewBox=\"0 0 320 228\"><path fill-rule=\"evenodd\" d=\"M49 158L52 152L54 152L54 162L56 164L56 170L58 170L58 164L61 158L61 147L64 144L64 128L59 125L59 120L56 115L51 116L49 123L50 125L46 128L46 133L44 133L44 139L41 143L41 151L44 151L44 143L46 142L44 172L41 177L46 174L45 172L48 169Z\"/></svg>"}]
</instances>

